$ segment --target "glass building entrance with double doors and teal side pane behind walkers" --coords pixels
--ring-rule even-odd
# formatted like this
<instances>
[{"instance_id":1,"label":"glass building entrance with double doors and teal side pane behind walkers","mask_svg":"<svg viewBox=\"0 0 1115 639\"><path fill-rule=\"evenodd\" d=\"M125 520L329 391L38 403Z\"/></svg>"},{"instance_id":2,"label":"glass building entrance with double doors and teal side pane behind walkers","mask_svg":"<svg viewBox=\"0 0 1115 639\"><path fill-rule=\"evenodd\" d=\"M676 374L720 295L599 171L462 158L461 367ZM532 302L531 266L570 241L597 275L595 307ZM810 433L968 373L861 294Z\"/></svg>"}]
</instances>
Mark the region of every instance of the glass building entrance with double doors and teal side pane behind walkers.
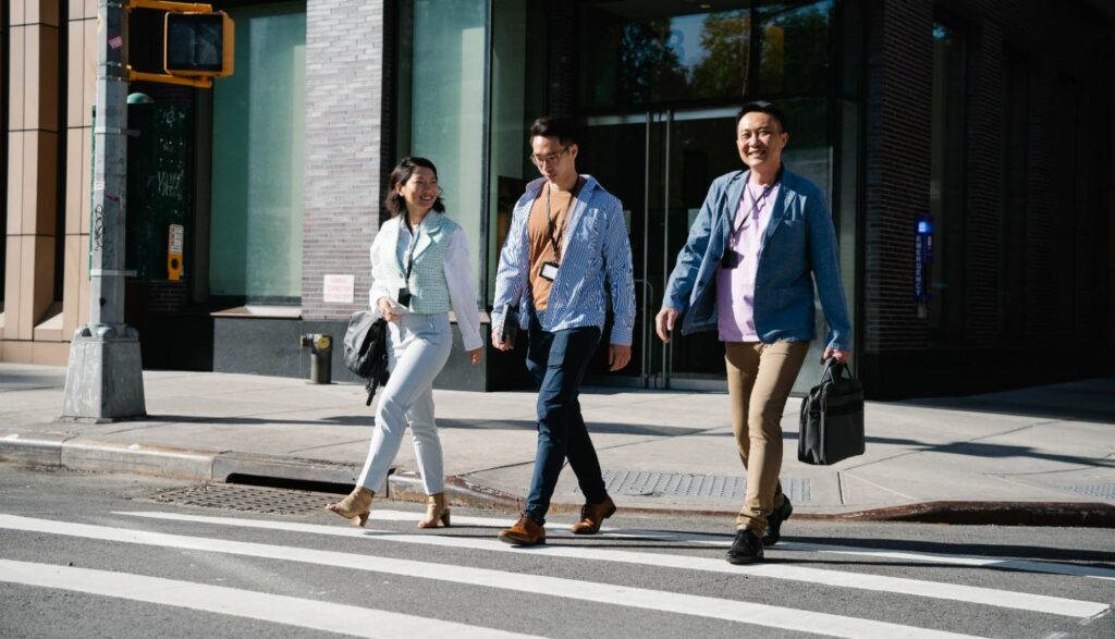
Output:
<instances>
[{"instance_id":1,"label":"glass building entrance with double doors and teal side pane behind walkers","mask_svg":"<svg viewBox=\"0 0 1115 639\"><path fill-rule=\"evenodd\" d=\"M434 159L449 214L485 239L477 242L482 304L494 298L514 203L539 175L527 161L535 117L571 116L580 128L578 168L623 202L638 304L633 359L609 372L604 340L590 384L724 388L715 332L663 345L653 318L709 185L743 167L735 115L746 100L782 107L787 166L828 195L854 313L861 0L399 7L397 154ZM802 384L815 384L818 359L809 358L814 370ZM520 377L516 369L488 386L512 387Z\"/></svg>"}]
</instances>

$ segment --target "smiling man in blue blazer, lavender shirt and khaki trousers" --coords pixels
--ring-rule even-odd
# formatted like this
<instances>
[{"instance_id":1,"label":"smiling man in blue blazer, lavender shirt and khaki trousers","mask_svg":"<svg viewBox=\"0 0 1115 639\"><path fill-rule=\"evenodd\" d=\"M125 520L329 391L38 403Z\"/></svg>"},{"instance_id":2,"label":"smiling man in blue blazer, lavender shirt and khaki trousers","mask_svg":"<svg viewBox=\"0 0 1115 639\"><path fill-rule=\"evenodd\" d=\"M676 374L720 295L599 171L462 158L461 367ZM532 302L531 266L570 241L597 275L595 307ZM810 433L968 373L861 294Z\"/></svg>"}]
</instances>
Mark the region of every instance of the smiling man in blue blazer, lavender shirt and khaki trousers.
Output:
<instances>
[{"instance_id":1,"label":"smiling man in blue blazer, lavender shirt and khaki trousers","mask_svg":"<svg viewBox=\"0 0 1115 639\"><path fill-rule=\"evenodd\" d=\"M782 163L786 117L767 101L744 106L736 147L746 170L717 177L678 254L656 317L658 336L719 331L725 346L733 430L747 471L731 563L763 559L793 506L782 492L782 414L814 327L816 296L828 323L823 359L844 362L852 326L840 249L824 193Z\"/></svg>"}]
</instances>

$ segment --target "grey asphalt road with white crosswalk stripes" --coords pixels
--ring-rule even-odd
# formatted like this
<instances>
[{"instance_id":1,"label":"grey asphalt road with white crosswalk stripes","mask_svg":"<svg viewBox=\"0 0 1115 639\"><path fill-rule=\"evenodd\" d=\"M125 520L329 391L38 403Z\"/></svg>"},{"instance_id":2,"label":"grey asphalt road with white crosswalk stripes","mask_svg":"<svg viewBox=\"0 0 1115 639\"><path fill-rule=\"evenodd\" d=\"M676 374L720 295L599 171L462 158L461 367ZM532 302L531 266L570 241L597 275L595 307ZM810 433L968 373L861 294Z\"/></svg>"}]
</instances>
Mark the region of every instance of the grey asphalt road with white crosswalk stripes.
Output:
<instances>
[{"instance_id":1,"label":"grey asphalt road with white crosswalk stripes","mask_svg":"<svg viewBox=\"0 0 1115 639\"><path fill-rule=\"evenodd\" d=\"M0 636L1115 637L1111 530L792 519L734 567L730 521L514 549L506 513L377 502L360 531L321 501L0 466Z\"/></svg>"}]
</instances>

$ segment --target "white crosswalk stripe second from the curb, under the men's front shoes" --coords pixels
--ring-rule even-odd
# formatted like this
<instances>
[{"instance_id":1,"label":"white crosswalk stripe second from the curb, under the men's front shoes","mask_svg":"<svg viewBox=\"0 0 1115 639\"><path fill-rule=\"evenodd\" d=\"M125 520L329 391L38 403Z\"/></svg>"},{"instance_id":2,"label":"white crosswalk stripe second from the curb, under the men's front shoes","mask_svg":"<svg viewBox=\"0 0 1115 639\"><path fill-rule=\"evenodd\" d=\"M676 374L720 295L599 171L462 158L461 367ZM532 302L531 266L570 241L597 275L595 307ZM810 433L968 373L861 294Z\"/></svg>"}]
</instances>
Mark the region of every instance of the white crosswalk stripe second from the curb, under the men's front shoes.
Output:
<instances>
[{"instance_id":1,"label":"white crosswalk stripe second from the curb, under the men's front shoes","mask_svg":"<svg viewBox=\"0 0 1115 639\"><path fill-rule=\"evenodd\" d=\"M220 525L232 525L241 527L253 527L263 530L281 530L291 532L303 532L311 534L327 534L336 536L368 536L397 543L416 543L425 545L437 545L444 548L458 548L471 550L484 550L489 552L530 552L532 556L555 556L568 559L583 559L590 561L608 561L619 563L632 563L639 565L655 565L659 568L673 568L681 570L699 570L704 572L717 572L728 574L740 574L748 577L765 577L772 579L786 579L802 581L806 583L831 585L837 588L855 588L860 590L871 590L878 592L893 592L898 594L909 594L914 597L927 597L932 599L944 599L950 601L963 601L966 603L979 603L995 606L998 608L1011 608L1016 610L1027 610L1034 612L1046 612L1049 614L1060 614L1065 617L1088 618L1107 610L1106 603L1092 601L1080 601L1076 599L1064 599L1045 594L1030 594L1025 592L1011 592L996 590L991 588L980 588L975 585L951 584L937 581L921 581L900 577L888 577L882 574L866 574L856 572L840 572L835 570L823 570L799 565L785 565L777 563L759 563L753 565L733 565L721 559L709 559L692 556L687 554L656 554L648 552L604 550L598 548L582 548L570 545L542 545L532 549L516 549L495 539L475 539L462 536L439 536L432 534L403 534L392 531L381 530L357 530L350 527L329 526L320 524L302 524L284 521L249 520L233 517L211 517L204 515L187 515L180 513L152 513L152 512L120 512L139 517L162 519L171 521L186 521L195 523L209 523Z\"/></svg>"}]
</instances>

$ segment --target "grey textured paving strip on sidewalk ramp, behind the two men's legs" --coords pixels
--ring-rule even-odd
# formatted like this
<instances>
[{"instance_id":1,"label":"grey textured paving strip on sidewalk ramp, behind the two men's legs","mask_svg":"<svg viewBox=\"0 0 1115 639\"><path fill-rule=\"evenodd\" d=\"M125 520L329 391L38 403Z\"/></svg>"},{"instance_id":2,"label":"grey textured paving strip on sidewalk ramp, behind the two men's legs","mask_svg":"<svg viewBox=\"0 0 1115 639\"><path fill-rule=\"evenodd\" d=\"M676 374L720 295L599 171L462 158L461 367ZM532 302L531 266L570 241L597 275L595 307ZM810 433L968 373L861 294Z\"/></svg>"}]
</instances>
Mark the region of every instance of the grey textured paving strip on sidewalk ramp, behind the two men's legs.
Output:
<instances>
[{"instance_id":1,"label":"grey textured paving strip on sidewalk ramp, behind the two men's legs","mask_svg":"<svg viewBox=\"0 0 1115 639\"><path fill-rule=\"evenodd\" d=\"M699 475L687 473L652 473L648 471L604 471L609 493L643 497L683 497L743 500L747 496L747 478L738 475ZM782 490L792 502L809 501L809 481L783 478Z\"/></svg>"}]
</instances>

